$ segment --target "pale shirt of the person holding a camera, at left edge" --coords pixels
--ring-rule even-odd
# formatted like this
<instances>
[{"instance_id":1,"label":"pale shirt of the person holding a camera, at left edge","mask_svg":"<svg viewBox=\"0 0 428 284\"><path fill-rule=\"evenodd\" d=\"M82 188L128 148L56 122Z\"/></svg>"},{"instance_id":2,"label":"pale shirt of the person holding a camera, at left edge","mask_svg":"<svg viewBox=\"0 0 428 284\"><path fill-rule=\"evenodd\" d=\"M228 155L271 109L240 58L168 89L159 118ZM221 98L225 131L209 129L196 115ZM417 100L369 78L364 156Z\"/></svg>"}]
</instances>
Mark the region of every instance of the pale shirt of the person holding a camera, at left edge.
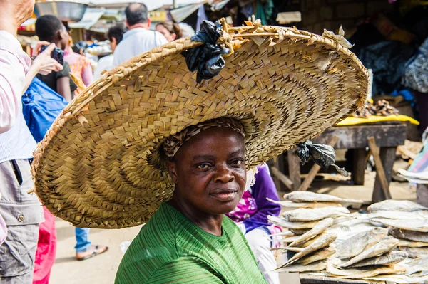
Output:
<instances>
[{"instance_id":1,"label":"pale shirt of the person holding a camera, at left edge","mask_svg":"<svg viewBox=\"0 0 428 284\"><path fill-rule=\"evenodd\" d=\"M33 157L36 141L22 114L21 96L31 65L19 41L0 31L0 163Z\"/></svg>"}]
</instances>

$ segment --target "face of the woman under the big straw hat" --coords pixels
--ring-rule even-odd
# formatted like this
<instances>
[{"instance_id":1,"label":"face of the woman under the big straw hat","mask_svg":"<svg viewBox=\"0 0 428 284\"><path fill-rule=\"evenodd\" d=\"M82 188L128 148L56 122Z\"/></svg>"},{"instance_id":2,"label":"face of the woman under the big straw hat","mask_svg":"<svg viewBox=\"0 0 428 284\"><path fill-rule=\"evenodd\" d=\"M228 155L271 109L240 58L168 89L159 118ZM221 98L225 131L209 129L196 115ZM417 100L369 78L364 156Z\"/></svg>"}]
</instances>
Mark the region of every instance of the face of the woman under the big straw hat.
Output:
<instances>
[{"instance_id":1,"label":"face of the woman under the big straw hat","mask_svg":"<svg viewBox=\"0 0 428 284\"><path fill-rule=\"evenodd\" d=\"M168 162L174 199L206 214L225 214L245 189L244 138L227 127L211 127L190 138Z\"/></svg>"}]
</instances>

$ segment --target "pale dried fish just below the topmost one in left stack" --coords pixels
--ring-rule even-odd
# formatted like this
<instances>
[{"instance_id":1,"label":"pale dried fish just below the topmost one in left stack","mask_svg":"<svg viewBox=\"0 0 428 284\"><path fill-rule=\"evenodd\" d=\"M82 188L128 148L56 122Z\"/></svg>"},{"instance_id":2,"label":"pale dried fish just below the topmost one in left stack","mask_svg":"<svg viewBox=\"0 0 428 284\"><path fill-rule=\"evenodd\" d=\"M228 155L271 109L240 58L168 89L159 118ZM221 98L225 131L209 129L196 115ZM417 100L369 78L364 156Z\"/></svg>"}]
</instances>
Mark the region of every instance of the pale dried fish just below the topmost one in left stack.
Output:
<instances>
[{"instance_id":1,"label":"pale dried fish just below the topmost one in left stack","mask_svg":"<svg viewBox=\"0 0 428 284\"><path fill-rule=\"evenodd\" d=\"M325 218L335 218L340 216L347 216L350 211L345 207L325 207L316 209L295 209L286 211L282 216L292 222L296 221L317 221Z\"/></svg>"}]
</instances>

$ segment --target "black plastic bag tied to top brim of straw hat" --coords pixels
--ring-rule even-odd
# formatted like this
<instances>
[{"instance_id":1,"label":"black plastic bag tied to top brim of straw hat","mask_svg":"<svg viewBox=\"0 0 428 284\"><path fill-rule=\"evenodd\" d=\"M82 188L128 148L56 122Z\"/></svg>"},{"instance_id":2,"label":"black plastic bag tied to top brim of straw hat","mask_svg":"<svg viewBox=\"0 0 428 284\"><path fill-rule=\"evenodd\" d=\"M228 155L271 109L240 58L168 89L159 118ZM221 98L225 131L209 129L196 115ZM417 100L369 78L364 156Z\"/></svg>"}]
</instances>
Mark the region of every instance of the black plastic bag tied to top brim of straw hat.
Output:
<instances>
[{"instance_id":1,"label":"black plastic bag tied to top brim of straw hat","mask_svg":"<svg viewBox=\"0 0 428 284\"><path fill-rule=\"evenodd\" d=\"M223 28L220 21L215 23L203 21L200 24L200 31L192 37L192 41L205 43L203 46L184 51L185 63L190 71L198 70L196 81L213 78L225 67L223 54L230 53L229 48L223 48L216 44L218 38L222 35Z\"/></svg>"}]
</instances>

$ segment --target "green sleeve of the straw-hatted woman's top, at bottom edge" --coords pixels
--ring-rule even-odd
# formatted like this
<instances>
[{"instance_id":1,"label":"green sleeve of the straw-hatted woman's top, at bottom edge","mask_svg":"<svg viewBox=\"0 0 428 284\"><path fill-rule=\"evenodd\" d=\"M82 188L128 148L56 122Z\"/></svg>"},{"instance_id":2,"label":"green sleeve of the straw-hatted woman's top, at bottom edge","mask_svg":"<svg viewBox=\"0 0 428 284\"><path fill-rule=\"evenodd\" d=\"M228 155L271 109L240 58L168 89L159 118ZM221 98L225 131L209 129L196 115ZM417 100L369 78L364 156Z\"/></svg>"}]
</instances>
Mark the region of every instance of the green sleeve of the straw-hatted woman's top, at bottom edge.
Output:
<instances>
[{"instance_id":1,"label":"green sleeve of the straw-hatted woman's top, at bottom edge","mask_svg":"<svg viewBox=\"0 0 428 284\"><path fill-rule=\"evenodd\" d=\"M215 271L199 258L182 256L165 263L148 280L150 284L223 284Z\"/></svg>"}]
</instances>

